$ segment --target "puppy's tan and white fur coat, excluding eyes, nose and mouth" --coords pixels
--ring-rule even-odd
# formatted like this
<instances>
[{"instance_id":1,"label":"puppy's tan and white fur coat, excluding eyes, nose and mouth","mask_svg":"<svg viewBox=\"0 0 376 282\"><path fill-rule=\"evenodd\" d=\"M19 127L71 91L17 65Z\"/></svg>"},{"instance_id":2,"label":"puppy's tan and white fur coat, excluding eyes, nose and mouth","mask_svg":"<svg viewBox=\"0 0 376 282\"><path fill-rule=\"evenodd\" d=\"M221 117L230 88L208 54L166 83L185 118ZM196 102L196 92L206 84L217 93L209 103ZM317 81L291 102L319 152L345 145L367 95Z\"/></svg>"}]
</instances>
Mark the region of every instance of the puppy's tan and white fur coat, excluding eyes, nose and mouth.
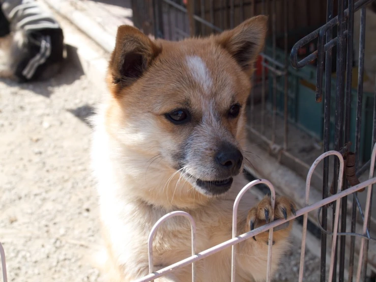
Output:
<instances>
[{"instance_id":1,"label":"puppy's tan and white fur coat, excluding eyes, nose and mouth","mask_svg":"<svg viewBox=\"0 0 376 282\"><path fill-rule=\"evenodd\" d=\"M217 196L206 194L194 181L221 179L213 165L221 142L242 152L245 148L249 75L263 48L266 26L267 17L257 16L220 35L181 42L151 41L133 27L119 27L107 75L110 95L93 119L93 168L108 250L106 268L114 275L109 281L131 281L149 273L147 238L168 212L193 216L197 251L231 238L234 201L246 179L234 176L232 187ZM234 103L242 108L230 119L228 109ZM172 124L165 114L180 107L190 109L191 121ZM186 166L178 171L181 159ZM282 208L291 215L292 205L278 198L275 217L283 217ZM258 211L266 207L271 208L269 198L257 206L246 193L239 205L239 234L250 230L251 217L265 224ZM275 233L273 270L288 247L290 230ZM165 222L154 238L154 269L189 257L190 234L185 218ZM265 280L268 246L263 236L237 246L237 281ZM190 280L190 266L156 279ZM229 280L230 248L197 263L197 281Z\"/></svg>"}]
</instances>

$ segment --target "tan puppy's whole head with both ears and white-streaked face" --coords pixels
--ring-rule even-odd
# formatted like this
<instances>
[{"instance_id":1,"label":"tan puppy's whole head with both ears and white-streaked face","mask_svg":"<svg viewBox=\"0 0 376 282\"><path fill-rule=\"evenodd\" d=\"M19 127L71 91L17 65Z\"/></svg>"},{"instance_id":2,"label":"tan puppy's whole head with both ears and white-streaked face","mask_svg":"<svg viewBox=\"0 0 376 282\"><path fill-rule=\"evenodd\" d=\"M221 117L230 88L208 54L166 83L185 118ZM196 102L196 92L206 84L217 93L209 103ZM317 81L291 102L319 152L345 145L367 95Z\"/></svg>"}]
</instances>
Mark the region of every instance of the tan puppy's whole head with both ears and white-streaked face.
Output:
<instances>
[{"instance_id":1,"label":"tan puppy's whole head with both ears and white-streaked face","mask_svg":"<svg viewBox=\"0 0 376 282\"><path fill-rule=\"evenodd\" d=\"M242 170L250 76L266 31L266 16L180 42L120 26L107 76L109 126L121 117L122 143L158 155L200 193L224 193Z\"/></svg>"}]
</instances>

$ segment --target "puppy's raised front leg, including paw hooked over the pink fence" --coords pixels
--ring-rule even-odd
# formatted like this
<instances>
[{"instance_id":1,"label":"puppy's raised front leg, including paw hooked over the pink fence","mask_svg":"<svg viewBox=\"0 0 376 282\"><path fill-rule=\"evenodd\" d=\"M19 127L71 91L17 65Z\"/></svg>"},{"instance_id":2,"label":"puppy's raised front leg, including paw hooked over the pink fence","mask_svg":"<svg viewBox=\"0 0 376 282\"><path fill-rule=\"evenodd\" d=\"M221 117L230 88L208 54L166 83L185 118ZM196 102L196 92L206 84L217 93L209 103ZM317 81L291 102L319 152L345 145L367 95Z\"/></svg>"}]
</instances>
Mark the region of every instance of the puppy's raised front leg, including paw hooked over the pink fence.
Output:
<instances>
[{"instance_id":1,"label":"puppy's raised front leg, including paw hooked over the pink fence","mask_svg":"<svg viewBox=\"0 0 376 282\"><path fill-rule=\"evenodd\" d=\"M270 222L270 218L288 218L295 214L295 204L285 197L277 197L274 212L271 206L270 196L252 208L247 216L247 221L243 225L243 232L248 232L261 225ZM288 237L292 229L293 222L288 221L288 225L273 233L272 252L272 273L277 269L279 260L289 246ZM250 238L237 246L237 265L241 276L253 277L255 281L265 281L268 262L268 239L269 232L264 232Z\"/></svg>"}]
</instances>

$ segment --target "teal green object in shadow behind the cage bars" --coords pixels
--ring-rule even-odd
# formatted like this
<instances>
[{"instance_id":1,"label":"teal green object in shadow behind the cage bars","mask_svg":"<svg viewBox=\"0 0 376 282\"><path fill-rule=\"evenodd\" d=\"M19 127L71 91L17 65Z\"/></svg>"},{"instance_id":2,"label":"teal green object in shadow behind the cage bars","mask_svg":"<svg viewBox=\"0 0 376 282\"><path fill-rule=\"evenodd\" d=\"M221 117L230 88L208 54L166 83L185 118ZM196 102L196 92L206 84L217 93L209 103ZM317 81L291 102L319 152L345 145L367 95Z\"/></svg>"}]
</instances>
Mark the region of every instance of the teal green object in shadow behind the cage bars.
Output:
<instances>
[{"instance_id":1,"label":"teal green object in shadow behind the cage bars","mask_svg":"<svg viewBox=\"0 0 376 282\"><path fill-rule=\"evenodd\" d=\"M272 57L272 47L267 44L265 53ZM276 48L276 60L284 63L284 51ZM289 60L290 62L290 60ZM324 139L324 98L318 103L315 101L315 83L316 67L307 65L302 69L295 69L289 64L288 66L288 121L298 128L302 129L312 137ZM268 71L269 109L272 109L273 101L273 74ZM325 81L323 87L323 97L325 95ZM277 114L283 116L284 110L284 77L276 77L276 101ZM331 149L334 140L334 123L335 123L335 105L336 105L336 79L331 79L331 110L330 110L330 140ZM351 150L355 150L355 129L356 129L356 104L357 90L352 89L352 103L350 111L350 141L352 142ZM373 93L363 92L362 105L362 125L360 132L360 161L366 162L371 156L371 138L372 138L372 120L373 120ZM345 113L344 113L345 114ZM345 140L348 142L349 140Z\"/></svg>"}]
</instances>

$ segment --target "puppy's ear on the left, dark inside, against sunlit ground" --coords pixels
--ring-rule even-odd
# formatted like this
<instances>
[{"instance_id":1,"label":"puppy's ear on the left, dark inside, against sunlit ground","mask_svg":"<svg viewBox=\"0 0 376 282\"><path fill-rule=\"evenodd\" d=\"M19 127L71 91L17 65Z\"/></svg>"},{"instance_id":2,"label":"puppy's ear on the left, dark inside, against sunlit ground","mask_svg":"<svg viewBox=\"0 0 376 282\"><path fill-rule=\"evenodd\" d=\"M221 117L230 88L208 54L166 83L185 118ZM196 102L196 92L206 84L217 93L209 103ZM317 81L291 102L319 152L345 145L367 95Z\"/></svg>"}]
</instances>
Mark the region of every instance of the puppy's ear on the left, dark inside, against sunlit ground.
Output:
<instances>
[{"instance_id":1,"label":"puppy's ear on the left, dark inside, against sunlit ground","mask_svg":"<svg viewBox=\"0 0 376 282\"><path fill-rule=\"evenodd\" d=\"M161 47L135 27L119 26L108 71L115 91L119 92L141 77L160 52Z\"/></svg>"}]
</instances>

